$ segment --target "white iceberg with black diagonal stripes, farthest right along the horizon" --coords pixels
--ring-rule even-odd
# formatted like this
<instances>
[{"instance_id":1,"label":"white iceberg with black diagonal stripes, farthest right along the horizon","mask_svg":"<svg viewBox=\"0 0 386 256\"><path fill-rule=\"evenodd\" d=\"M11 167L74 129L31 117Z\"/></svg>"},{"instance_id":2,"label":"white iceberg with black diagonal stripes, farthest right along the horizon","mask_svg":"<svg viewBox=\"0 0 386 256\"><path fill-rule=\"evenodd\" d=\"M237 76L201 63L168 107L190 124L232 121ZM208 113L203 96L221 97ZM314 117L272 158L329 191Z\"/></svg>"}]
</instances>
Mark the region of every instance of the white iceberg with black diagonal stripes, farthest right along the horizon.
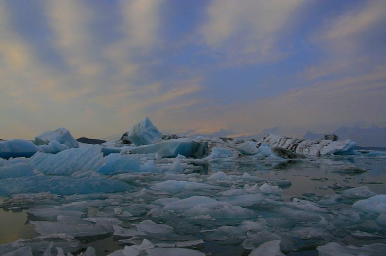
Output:
<instances>
[{"instance_id":1,"label":"white iceberg with black diagonal stripes, farthest right along the horizon","mask_svg":"<svg viewBox=\"0 0 386 256\"><path fill-rule=\"evenodd\" d=\"M307 140L269 134L262 141L272 147L282 147L309 156L357 154L354 150L356 143L351 140Z\"/></svg>"}]
</instances>

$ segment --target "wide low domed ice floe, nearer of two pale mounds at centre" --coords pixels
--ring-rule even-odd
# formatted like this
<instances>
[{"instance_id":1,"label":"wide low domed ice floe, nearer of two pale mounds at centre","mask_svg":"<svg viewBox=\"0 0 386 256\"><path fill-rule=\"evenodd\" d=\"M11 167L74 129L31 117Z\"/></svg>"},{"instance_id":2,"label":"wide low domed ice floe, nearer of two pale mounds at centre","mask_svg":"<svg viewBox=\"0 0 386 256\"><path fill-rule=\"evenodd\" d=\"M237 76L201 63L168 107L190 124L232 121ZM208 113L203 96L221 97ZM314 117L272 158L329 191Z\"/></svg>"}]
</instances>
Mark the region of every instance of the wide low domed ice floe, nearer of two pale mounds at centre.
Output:
<instances>
[{"instance_id":1,"label":"wide low domed ice floe, nearer of two pale mounds at centre","mask_svg":"<svg viewBox=\"0 0 386 256\"><path fill-rule=\"evenodd\" d=\"M186 216L207 215L212 218L250 218L256 216L251 210L225 202L200 204L186 211Z\"/></svg>"}]
</instances>

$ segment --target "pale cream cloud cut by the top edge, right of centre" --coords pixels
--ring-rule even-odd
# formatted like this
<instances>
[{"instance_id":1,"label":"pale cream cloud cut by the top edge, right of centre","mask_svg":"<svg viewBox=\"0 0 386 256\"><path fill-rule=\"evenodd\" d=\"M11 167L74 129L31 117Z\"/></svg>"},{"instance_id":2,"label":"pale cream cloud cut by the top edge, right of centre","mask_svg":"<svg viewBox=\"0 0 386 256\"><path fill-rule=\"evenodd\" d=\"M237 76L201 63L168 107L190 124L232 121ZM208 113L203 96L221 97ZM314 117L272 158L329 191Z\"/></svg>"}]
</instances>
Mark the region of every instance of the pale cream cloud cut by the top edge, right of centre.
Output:
<instances>
[{"instance_id":1,"label":"pale cream cloud cut by the top edge, right of centre","mask_svg":"<svg viewBox=\"0 0 386 256\"><path fill-rule=\"evenodd\" d=\"M214 0L201 33L205 43L233 64L273 61L285 56L280 32L295 20L304 0Z\"/></svg>"}]
</instances>

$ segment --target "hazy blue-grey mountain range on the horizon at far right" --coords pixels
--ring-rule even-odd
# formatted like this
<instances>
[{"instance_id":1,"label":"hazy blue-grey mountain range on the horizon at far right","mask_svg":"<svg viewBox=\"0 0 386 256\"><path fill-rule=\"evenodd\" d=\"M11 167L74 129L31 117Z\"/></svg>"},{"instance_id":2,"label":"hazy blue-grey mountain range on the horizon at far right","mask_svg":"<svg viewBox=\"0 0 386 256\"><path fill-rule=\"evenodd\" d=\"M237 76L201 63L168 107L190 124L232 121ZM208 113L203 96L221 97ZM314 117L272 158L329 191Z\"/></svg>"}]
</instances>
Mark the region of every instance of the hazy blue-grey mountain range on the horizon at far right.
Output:
<instances>
[{"instance_id":1,"label":"hazy blue-grey mountain range on the horizon at far right","mask_svg":"<svg viewBox=\"0 0 386 256\"><path fill-rule=\"evenodd\" d=\"M358 126L342 126L332 133L338 135L340 140L351 139L356 142L358 146L386 147L386 127L371 126L369 128L361 128ZM303 138L316 140L323 138L323 136L324 134L309 131Z\"/></svg>"}]
</instances>

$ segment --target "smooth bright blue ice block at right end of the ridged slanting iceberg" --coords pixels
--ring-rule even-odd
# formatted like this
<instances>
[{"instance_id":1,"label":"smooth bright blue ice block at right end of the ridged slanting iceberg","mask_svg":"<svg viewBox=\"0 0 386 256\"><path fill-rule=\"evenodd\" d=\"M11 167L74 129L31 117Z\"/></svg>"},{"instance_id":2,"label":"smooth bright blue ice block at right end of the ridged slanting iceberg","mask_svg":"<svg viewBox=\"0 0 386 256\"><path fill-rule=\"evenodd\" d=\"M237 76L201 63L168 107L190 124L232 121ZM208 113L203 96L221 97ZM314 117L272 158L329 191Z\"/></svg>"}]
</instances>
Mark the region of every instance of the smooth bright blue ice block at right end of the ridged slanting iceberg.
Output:
<instances>
[{"instance_id":1,"label":"smooth bright blue ice block at right end of the ridged slanting iceberg","mask_svg":"<svg viewBox=\"0 0 386 256\"><path fill-rule=\"evenodd\" d=\"M120 154L110 154L106 163L98 170L101 174L114 175L125 172L139 172L140 158L133 155L121 156Z\"/></svg>"}]
</instances>

